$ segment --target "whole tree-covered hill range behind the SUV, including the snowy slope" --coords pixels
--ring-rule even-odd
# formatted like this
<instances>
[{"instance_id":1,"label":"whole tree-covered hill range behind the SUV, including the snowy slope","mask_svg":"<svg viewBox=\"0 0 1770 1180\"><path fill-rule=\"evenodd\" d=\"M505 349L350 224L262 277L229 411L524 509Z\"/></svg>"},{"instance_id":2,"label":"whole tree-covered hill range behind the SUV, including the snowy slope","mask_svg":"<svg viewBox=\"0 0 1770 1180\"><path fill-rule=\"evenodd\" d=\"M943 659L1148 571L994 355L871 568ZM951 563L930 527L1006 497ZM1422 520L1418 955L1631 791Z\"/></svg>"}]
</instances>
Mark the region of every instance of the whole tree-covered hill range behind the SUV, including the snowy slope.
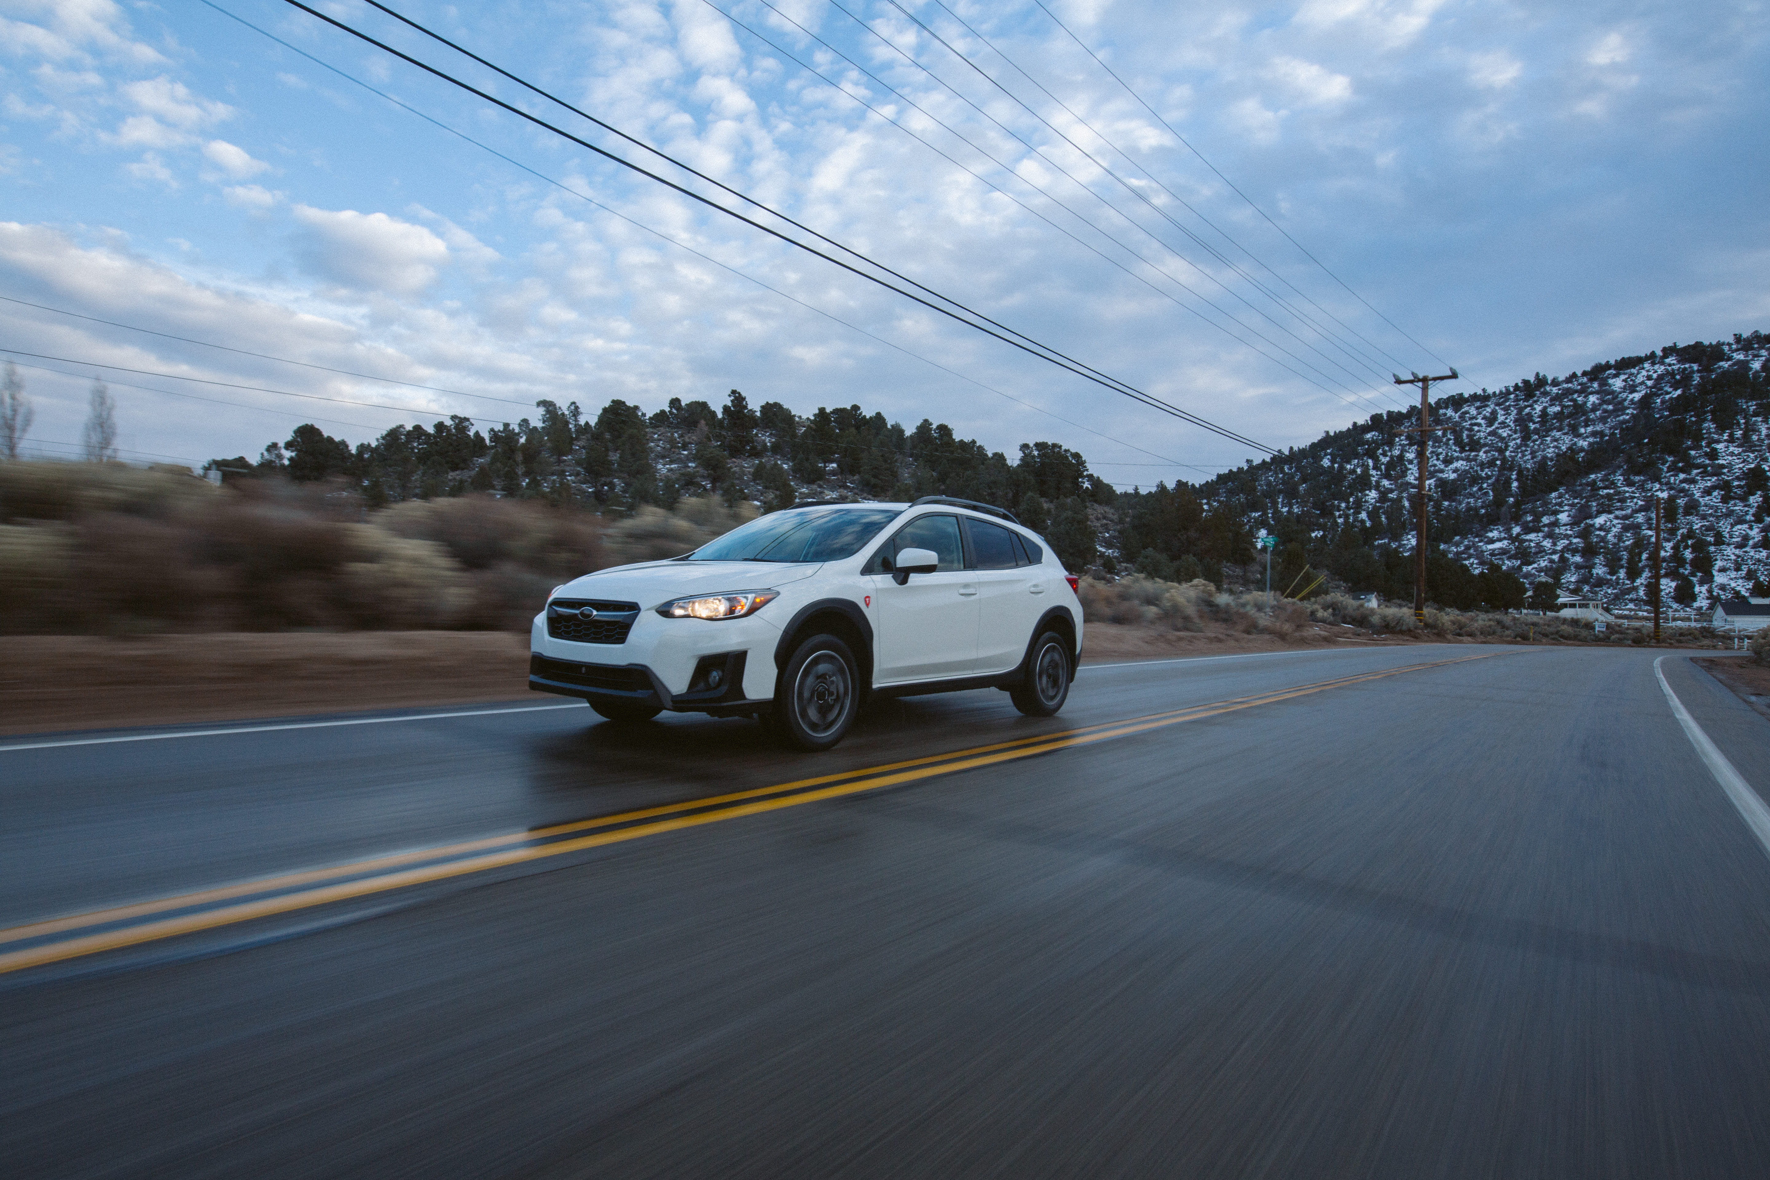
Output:
<instances>
[{"instance_id":1,"label":"whole tree-covered hill range behind the SUV, including the snowy slope","mask_svg":"<svg viewBox=\"0 0 1770 1180\"><path fill-rule=\"evenodd\" d=\"M809 499L959 495L1014 511L1071 570L1251 584L1253 538L1278 536L1274 589L1412 598L1416 416L1393 410L1214 479L1117 492L1080 453L1027 442L1011 462L950 426L858 405L800 414L671 398L595 416L536 402L480 432L467 418L395 426L356 446L313 425L235 476L342 481L373 510L466 494L620 518L685 499L775 511ZM1566 377L1434 402L1428 598L1455 609L1549 607L1565 591L1648 598L1651 501L1666 501L1666 600L1706 605L1770 582L1770 341L1667 345Z\"/></svg>"}]
</instances>

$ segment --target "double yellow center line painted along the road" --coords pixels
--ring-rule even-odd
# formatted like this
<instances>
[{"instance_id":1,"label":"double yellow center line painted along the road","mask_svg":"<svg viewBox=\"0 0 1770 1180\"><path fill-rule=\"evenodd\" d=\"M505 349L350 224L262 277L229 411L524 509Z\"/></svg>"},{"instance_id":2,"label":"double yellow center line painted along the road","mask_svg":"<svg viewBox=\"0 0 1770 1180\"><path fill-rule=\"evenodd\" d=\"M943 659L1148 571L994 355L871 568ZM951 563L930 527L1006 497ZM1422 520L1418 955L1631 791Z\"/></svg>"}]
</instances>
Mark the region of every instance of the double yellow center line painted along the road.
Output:
<instances>
[{"instance_id":1,"label":"double yellow center line painted along the road","mask_svg":"<svg viewBox=\"0 0 1770 1180\"><path fill-rule=\"evenodd\" d=\"M313 906L326 906L331 902L368 897L372 893L386 893L389 890L485 872L489 869L503 869L508 865L545 860L549 856L563 856L566 853L579 853L604 844L620 844L623 840L637 840L641 837L676 831L680 828L694 828L724 819L736 819L740 816L756 816L761 812L781 810L784 807L800 807L818 800L857 794L860 791L876 791L880 787L917 782L936 775L950 775L961 770L975 770L979 766L993 766L997 762L1009 762L1014 759L1034 757L1037 754L1050 754L1051 750L1066 750L1069 747L1108 741L1112 738L1124 738L1127 734L1161 729L1165 725L1195 722L1205 716L1234 713L1237 709L1276 704L1278 701L1290 701L1294 697L1304 697L1329 688L1345 688L1374 679L1384 679L1388 676L1400 676L1404 672L1423 672L1427 669L1446 667L1451 663L1487 660L1494 655L1501 653L1483 653L1455 660L1437 660L1432 663L1411 663L1407 667L1386 669L1379 672L1340 676L1335 679L1315 681L1312 685L1299 685L1296 688L1278 688L1266 693L1255 693L1251 697L1234 697L1230 701L1216 701L1188 709L1152 713L1147 716L1104 722L1099 725L1083 725L1060 734L1039 734L1034 738L997 741L991 745L972 747L968 750L933 754L883 766L820 775L816 778L798 778L793 782L775 784L772 787L733 791L731 794L715 794L683 803L667 803L662 807L648 807L614 816L600 816L596 819L579 819L573 823L536 828L533 831L512 831L480 840L446 844L441 847L398 853L393 856L377 856L329 869L310 869L260 881L242 881L239 885L200 890L195 893L179 893L131 906L115 906L110 909L69 915L65 918L16 925L0 931L0 946L11 943L37 945L0 952L0 975L50 962L62 962L65 959L78 959L81 955L94 955L104 950L152 943L165 938L175 938L179 934L211 931L223 925L234 925L237 922L251 922L253 918L267 918L292 913L296 909L310 909ZM218 906L218 902L234 904ZM154 915L168 916L156 918ZM150 920L135 922L136 918ZM80 931L87 932L80 934ZM71 938L46 943L39 941L57 934L71 934Z\"/></svg>"}]
</instances>

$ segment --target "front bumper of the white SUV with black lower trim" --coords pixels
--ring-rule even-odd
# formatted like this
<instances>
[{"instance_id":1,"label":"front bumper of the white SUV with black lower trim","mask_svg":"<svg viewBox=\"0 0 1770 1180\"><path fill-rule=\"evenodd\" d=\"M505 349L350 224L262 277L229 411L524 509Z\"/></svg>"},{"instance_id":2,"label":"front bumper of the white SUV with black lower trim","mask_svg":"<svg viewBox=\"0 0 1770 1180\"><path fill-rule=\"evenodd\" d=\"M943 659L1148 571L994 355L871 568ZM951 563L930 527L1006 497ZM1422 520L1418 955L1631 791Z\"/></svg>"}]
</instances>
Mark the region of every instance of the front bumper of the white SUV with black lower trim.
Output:
<instances>
[{"instance_id":1,"label":"front bumper of the white SUV with black lower trim","mask_svg":"<svg viewBox=\"0 0 1770 1180\"><path fill-rule=\"evenodd\" d=\"M779 639L761 616L703 621L641 610L625 642L586 644L550 637L543 612L529 630L529 688L680 713L758 713L773 702Z\"/></svg>"}]
</instances>

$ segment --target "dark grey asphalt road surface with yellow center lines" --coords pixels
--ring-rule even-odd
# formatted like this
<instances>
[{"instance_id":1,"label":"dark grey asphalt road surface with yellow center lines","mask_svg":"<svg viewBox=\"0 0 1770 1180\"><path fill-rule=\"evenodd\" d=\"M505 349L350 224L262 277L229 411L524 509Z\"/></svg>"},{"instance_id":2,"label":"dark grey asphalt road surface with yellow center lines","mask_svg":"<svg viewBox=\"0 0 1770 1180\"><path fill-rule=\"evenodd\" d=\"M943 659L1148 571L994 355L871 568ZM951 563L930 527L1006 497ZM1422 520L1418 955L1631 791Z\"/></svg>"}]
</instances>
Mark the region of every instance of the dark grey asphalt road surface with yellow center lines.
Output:
<instances>
[{"instance_id":1,"label":"dark grey asphalt road surface with yellow center lines","mask_svg":"<svg viewBox=\"0 0 1770 1180\"><path fill-rule=\"evenodd\" d=\"M1090 667L827 755L582 708L0 743L0 1161L1765 1175L1770 854L1657 655ZM1770 793L1770 724L1662 667Z\"/></svg>"}]
</instances>

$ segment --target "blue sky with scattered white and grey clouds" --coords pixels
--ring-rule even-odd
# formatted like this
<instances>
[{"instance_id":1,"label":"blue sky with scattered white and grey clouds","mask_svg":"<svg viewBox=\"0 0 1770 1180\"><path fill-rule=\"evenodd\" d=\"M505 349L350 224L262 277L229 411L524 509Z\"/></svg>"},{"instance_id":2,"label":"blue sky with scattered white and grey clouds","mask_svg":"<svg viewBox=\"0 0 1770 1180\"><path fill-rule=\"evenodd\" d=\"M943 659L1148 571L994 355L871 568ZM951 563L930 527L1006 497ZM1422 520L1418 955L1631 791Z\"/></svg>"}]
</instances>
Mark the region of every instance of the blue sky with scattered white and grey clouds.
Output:
<instances>
[{"instance_id":1,"label":"blue sky with scattered white and grey clouds","mask_svg":"<svg viewBox=\"0 0 1770 1180\"><path fill-rule=\"evenodd\" d=\"M315 7L738 205L361 0ZM1770 329L1759 2L389 7L1274 448L1393 409L1391 370L1497 387ZM136 460L733 387L1053 439L1122 485L1253 455L289 4L0 21L0 347L39 453L80 441L104 375Z\"/></svg>"}]
</instances>

